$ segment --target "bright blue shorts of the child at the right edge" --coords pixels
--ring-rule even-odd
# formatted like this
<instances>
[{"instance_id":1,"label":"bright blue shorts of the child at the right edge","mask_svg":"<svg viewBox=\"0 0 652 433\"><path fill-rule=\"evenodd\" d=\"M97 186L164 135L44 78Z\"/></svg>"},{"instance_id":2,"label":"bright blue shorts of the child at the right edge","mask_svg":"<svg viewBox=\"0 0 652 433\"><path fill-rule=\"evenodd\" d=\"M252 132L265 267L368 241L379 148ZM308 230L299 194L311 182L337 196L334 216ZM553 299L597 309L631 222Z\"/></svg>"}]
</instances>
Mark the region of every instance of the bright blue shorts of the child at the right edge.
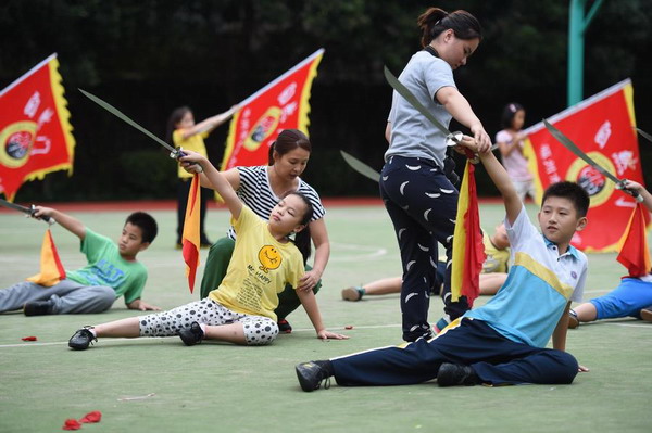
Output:
<instances>
[{"instance_id":1,"label":"bright blue shorts of the child at the right edge","mask_svg":"<svg viewBox=\"0 0 652 433\"><path fill-rule=\"evenodd\" d=\"M590 302L598 310L595 320L628 316L640 319L641 308L652 305L652 282L624 278L614 291Z\"/></svg>"}]
</instances>

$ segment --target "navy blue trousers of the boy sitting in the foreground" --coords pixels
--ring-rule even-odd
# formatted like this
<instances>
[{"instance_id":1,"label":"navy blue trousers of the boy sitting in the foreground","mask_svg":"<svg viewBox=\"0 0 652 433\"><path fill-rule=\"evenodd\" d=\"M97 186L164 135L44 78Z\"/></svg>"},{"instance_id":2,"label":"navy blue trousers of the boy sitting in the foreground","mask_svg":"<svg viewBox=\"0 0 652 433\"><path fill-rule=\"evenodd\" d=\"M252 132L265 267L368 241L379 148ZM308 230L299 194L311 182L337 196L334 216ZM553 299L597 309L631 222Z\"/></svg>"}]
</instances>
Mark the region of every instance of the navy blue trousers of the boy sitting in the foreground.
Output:
<instances>
[{"instance_id":1,"label":"navy blue trousers of the boy sitting in the foreground","mask_svg":"<svg viewBox=\"0 0 652 433\"><path fill-rule=\"evenodd\" d=\"M577 360L567 352L513 342L477 319L462 318L452 327L404 347L331 359L335 379L344 386L410 385L437 378L442 362L471 366L492 385L568 384L577 374Z\"/></svg>"}]
</instances>

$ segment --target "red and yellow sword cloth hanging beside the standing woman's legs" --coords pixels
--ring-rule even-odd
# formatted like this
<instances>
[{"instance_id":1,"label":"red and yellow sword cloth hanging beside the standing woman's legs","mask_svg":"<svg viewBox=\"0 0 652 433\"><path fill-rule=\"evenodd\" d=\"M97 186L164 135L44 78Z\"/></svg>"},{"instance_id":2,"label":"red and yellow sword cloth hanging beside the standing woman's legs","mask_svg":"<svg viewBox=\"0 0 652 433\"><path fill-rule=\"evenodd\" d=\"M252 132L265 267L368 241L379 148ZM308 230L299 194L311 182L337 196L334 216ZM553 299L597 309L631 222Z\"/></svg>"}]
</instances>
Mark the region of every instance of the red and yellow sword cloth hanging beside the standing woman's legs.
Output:
<instances>
[{"instance_id":1,"label":"red and yellow sword cloth hanging beside the standing woman's legs","mask_svg":"<svg viewBox=\"0 0 652 433\"><path fill-rule=\"evenodd\" d=\"M468 305L480 294L480 272L487 258L480 230L475 165L466 160L464 177L457 200L457 216L453 232L453 264L451 270L451 300L466 296Z\"/></svg>"}]
</instances>

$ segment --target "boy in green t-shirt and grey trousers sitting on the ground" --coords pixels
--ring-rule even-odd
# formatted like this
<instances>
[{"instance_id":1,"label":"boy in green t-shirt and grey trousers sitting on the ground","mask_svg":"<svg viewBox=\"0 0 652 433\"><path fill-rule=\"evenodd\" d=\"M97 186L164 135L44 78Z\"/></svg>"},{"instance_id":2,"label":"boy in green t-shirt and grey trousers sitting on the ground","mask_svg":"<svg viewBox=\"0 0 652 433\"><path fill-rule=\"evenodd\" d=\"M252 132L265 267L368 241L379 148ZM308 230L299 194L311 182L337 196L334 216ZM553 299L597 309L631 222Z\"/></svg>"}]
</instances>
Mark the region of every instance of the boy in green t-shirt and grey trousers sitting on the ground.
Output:
<instances>
[{"instance_id":1,"label":"boy in green t-shirt and grey trousers sitting on the ground","mask_svg":"<svg viewBox=\"0 0 652 433\"><path fill-rule=\"evenodd\" d=\"M66 272L65 279L49 288L23 281L0 290L0 313L20 308L25 316L102 313L123 295L129 309L160 309L140 300L147 269L136 260L136 255L147 250L156 237L154 218L143 212L129 215L116 244L60 211L42 206L35 209L35 218L54 218L59 226L79 238L88 265Z\"/></svg>"}]
</instances>

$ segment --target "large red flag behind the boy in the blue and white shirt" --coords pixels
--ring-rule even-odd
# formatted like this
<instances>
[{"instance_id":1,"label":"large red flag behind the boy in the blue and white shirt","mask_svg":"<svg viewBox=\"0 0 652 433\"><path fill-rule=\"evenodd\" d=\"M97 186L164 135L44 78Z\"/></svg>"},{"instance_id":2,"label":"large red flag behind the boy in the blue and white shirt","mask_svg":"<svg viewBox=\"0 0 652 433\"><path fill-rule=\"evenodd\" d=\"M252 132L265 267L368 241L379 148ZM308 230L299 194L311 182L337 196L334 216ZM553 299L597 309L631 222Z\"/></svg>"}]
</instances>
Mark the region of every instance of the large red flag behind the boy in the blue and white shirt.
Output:
<instances>
[{"instance_id":1,"label":"large red flag behind the boy in the blue and white shirt","mask_svg":"<svg viewBox=\"0 0 652 433\"><path fill-rule=\"evenodd\" d=\"M643 182L634 116L634 90L626 79L548 119L598 165L618 179ZM615 252L634 198L552 137L543 123L525 130L524 153L535 176L538 202L551 183L579 183L591 198L589 224L572 243L585 252Z\"/></svg>"}]
</instances>

